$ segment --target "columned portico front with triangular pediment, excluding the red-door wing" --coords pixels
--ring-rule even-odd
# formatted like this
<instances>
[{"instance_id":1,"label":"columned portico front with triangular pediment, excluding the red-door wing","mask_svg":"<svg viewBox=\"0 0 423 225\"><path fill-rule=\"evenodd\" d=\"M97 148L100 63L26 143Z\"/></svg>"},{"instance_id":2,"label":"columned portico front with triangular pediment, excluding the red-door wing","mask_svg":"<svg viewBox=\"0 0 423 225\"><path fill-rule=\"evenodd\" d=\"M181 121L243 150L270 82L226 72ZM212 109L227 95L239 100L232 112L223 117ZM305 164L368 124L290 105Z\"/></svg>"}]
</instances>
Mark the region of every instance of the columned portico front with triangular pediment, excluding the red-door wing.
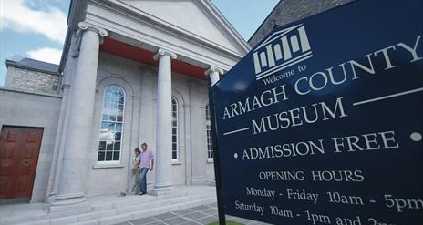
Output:
<instances>
[{"instance_id":1,"label":"columned portico front with triangular pediment, excluding the red-door wing","mask_svg":"<svg viewBox=\"0 0 423 225\"><path fill-rule=\"evenodd\" d=\"M142 142L155 156L149 194L212 184L207 86L249 49L214 5L75 1L68 26L50 210L81 210L88 197L122 189Z\"/></svg>"}]
</instances>

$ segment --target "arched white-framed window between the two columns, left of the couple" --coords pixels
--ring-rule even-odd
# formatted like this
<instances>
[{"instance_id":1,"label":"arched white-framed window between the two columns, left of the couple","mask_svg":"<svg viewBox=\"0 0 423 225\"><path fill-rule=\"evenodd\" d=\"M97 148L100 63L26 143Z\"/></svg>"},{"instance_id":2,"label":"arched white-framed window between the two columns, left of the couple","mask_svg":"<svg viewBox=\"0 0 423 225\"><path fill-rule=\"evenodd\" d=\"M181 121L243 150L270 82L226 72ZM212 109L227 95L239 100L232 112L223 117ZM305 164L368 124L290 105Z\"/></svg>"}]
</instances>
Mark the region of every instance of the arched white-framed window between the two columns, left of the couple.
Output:
<instances>
[{"instance_id":1,"label":"arched white-framed window between the two columns, left of the couple","mask_svg":"<svg viewBox=\"0 0 423 225\"><path fill-rule=\"evenodd\" d=\"M125 92L122 87L110 85L104 89L97 157L99 163L120 161L124 106Z\"/></svg>"}]
</instances>

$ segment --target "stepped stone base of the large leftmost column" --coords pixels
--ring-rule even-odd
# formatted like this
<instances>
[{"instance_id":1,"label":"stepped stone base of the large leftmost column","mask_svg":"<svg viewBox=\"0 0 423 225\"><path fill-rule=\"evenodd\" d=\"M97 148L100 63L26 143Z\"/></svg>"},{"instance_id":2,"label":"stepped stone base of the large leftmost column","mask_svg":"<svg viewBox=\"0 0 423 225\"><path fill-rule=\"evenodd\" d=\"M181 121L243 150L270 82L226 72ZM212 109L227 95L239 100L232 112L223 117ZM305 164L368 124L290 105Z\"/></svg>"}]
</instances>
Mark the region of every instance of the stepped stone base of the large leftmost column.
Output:
<instances>
[{"instance_id":1,"label":"stepped stone base of the large leftmost column","mask_svg":"<svg viewBox=\"0 0 423 225\"><path fill-rule=\"evenodd\" d=\"M50 199L49 211L77 210L89 211L88 200L84 193L57 195Z\"/></svg>"}]
</instances>

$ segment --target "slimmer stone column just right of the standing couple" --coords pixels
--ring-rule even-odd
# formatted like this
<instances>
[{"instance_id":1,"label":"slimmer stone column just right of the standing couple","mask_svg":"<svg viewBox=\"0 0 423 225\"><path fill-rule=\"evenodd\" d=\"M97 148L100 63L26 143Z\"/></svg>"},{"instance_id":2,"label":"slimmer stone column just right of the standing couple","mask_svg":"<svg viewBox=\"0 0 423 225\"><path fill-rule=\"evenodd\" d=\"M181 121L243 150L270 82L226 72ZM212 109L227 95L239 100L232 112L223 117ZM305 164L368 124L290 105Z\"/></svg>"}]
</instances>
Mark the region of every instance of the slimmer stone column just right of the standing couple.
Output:
<instances>
[{"instance_id":1,"label":"slimmer stone column just right of the standing couple","mask_svg":"<svg viewBox=\"0 0 423 225\"><path fill-rule=\"evenodd\" d=\"M159 60L157 87L156 177L154 195L173 189L171 180L171 59L174 53L159 49L154 59Z\"/></svg>"}]
</instances>

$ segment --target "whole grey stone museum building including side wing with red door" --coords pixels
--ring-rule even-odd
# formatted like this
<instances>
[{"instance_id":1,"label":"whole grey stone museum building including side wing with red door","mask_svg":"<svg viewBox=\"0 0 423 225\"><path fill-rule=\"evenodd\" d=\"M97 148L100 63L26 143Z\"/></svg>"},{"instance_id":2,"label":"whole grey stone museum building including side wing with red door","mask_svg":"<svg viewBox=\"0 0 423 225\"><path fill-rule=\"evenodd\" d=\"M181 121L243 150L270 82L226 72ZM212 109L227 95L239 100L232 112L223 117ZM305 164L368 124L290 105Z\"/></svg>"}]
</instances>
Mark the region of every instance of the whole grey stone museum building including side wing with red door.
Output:
<instances>
[{"instance_id":1,"label":"whole grey stone museum building including side wing with red door","mask_svg":"<svg viewBox=\"0 0 423 225\"><path fill-rule=\"evenodd\" d=\"M124 189L142 142L151 194L212 184L209 78L250 47L211 1L71 1L67 25L60 65L5 62L0 198L89 205Z\"/></svg>"}]
</instances>

